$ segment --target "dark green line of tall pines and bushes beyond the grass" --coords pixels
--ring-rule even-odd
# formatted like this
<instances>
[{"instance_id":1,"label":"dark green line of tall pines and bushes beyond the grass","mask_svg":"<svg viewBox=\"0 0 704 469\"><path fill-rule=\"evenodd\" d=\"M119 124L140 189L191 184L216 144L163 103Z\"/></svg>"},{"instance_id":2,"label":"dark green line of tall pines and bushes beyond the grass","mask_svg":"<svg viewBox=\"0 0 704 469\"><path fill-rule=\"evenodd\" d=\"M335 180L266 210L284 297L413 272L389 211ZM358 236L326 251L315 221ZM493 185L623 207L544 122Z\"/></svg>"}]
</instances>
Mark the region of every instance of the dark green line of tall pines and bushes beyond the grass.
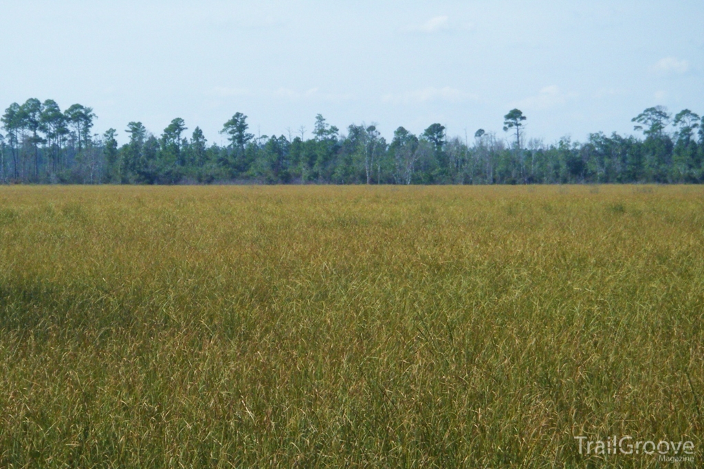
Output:
<instances>
[{"instance_id":1,"label":"dark green line of tall pines and bushes beyond the grass","mask_svg":"<svg viewBox=\"0 0 704 469\"><path fill-rule=\"evenodd\" d=\"M545 144L524 139L522 111L504 116L505 134L479 129L448 137L439 123L415 135L403 127L391 141L375 125L346 131L315 117L310 138L255 136L246 115L223 124L227 145L208 144L181 118L160 136L130 122L92 134L92 108L36 98L11 104L1 117L0 181L33 184L574 184L704 182L704 117L662 106L632 119L642 137L590 134ZM505 136L505 138L503 138Z\"/></svg>"}]
</instances>

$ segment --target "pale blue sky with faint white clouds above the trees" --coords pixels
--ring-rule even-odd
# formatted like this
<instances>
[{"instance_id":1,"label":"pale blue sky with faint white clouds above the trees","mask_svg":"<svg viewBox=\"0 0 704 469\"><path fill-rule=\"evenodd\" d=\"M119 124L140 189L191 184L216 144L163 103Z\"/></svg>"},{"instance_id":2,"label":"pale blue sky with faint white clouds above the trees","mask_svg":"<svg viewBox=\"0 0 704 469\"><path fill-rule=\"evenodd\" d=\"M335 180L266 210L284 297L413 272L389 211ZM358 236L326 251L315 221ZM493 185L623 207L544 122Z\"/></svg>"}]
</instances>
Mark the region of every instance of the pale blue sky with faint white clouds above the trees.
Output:
<instances>
[{"instance_id":1,"label":"pale blue sky with faint white clouds above the trees","mask_svg":"<svg viewBox=\"0 0 704 469\"><path fill-rule=\"evenodd\" d=\"M0 0L0 106L91 106L94 131L175 117L225 142L434 122L471 140L519 108L527 139L634 134L654 105L704 114L704 1Z\"/></svg>"}]
</instances>

